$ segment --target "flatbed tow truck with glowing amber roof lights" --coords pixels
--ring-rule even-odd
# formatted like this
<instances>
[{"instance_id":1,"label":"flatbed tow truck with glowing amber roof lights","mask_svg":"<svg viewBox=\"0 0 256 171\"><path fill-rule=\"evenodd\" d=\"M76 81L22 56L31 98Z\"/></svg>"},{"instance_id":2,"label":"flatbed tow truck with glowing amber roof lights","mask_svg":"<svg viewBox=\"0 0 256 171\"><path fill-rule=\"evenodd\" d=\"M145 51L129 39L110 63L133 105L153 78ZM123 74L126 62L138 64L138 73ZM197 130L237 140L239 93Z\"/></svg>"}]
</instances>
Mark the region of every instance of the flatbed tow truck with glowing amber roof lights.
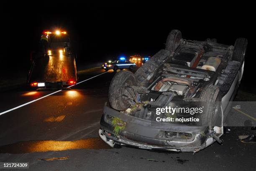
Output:
<instances>
[{"instance_id":1,"label":"flatbed tow truck with glowing amber roof lights","mask_svg":"<svg viewBox=\"0 0 256 171\"><path fill-rule=\"evenodd\" d=\"M75 54L72 52L67 31L44 31L49 37L46 50L38 50L32 58L27 83L31 88L70 89L77 83ZM41 48L42 49L42 48Z\"/></svg>"}]
</instances>

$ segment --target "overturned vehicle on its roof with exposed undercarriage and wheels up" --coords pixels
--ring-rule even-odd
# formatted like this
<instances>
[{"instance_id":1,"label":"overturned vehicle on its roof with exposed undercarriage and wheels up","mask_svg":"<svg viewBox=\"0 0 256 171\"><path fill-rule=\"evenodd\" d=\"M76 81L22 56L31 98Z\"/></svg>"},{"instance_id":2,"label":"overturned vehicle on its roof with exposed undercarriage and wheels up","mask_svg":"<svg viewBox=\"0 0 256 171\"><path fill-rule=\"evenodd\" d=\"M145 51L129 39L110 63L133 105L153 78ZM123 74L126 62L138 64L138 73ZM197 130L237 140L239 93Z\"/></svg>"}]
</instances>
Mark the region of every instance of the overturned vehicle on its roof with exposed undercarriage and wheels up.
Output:
<instances>
[{"instance_id":1,"label":"overturned vehicle on its roof with exposed undercarriage and wheels up","mask_svg":"<svg viewBox=\"0 0 256 171\"><path fill-rule=\"evenodd\" d=\"M223 123L243 75L246 48L245 38L238 38L234 46L223 45L216 39L185 40L179 30L172 30L166 49L136 73L115 74L100 137L112 147L181 152L221 143Z\"/></svg>"}]
</instances>

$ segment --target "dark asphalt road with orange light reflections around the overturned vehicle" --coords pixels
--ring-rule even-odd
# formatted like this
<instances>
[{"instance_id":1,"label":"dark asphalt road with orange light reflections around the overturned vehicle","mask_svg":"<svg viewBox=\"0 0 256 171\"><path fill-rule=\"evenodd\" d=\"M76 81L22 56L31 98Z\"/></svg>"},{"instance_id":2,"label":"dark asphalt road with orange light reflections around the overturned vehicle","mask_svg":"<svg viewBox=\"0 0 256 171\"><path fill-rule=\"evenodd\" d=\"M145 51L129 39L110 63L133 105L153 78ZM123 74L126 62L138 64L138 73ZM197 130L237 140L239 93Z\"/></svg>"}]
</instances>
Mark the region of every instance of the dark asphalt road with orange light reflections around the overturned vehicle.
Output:
<instances>
[{"instance_id":1,"label":"dark asphalt road with orange light reflections around the overturned vehicle","mask_svg":"<svg viewBox=\"0 0 256 171\"><path fill-rule=\"evenodd\" d=\"M104 72L100 68L79 71L79 81ZM256 170L255 143L238 139L251 132L245 127L227 127L223 145L214 143L197 153L109 148L100 140L98 129L114 75L109 71L71 91L54 93L1 115L0 162L29 162L30 170L53 171ZM53 92L29 91L25 86L2 91L0 113Z\"/></svg>"}]
</instances>

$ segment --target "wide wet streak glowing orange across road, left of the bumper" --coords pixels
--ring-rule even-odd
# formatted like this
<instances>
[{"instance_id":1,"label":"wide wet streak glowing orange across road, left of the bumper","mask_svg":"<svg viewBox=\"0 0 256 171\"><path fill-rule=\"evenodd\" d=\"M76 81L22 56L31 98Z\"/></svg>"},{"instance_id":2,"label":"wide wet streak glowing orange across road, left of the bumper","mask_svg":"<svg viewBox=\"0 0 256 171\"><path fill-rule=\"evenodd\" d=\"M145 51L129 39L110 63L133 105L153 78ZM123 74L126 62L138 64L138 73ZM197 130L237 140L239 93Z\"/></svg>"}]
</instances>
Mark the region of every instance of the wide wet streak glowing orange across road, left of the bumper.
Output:
<instances>
[{"instance_id":1,"label":"wide wet streak glowing orange across road, left of the bumper","mask_svg":"<svg viewBox=\"0 0 256 171\"><path fill-rule=\"evenodd\" d=\"M87 138L76 141L21 141L0 146L0 153L33 153L46 151L64 151L74 149L108 149L110 146L100 138Z\"/></svg>"}]
</instances>

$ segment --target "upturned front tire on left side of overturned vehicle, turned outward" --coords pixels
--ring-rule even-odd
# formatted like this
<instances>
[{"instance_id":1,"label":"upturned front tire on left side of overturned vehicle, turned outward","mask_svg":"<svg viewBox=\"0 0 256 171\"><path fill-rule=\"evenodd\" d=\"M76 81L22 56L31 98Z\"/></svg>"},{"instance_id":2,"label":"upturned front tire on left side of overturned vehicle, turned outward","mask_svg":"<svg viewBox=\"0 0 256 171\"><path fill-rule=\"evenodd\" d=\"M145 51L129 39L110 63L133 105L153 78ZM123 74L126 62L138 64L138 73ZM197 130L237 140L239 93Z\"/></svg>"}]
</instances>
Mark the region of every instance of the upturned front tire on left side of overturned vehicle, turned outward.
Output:
<instances>
[{"instance_id":1,"label":"upturned front tire on left side of overturned vehicle, turned outward","mask_svg":"<svg viewBox=\"0 0 256 171\"><path fill-rule=\"evenodd\" d=\"M125 86L128 85L137 85L137 79L135 75L128 70L121 70L116 73L113 79L111 80L109 87L109 103L112 108L118 111L125 111L131 105L125 100L123 95L130 97L130 93L125 90Z\"/></svg>"}]
</instances>

